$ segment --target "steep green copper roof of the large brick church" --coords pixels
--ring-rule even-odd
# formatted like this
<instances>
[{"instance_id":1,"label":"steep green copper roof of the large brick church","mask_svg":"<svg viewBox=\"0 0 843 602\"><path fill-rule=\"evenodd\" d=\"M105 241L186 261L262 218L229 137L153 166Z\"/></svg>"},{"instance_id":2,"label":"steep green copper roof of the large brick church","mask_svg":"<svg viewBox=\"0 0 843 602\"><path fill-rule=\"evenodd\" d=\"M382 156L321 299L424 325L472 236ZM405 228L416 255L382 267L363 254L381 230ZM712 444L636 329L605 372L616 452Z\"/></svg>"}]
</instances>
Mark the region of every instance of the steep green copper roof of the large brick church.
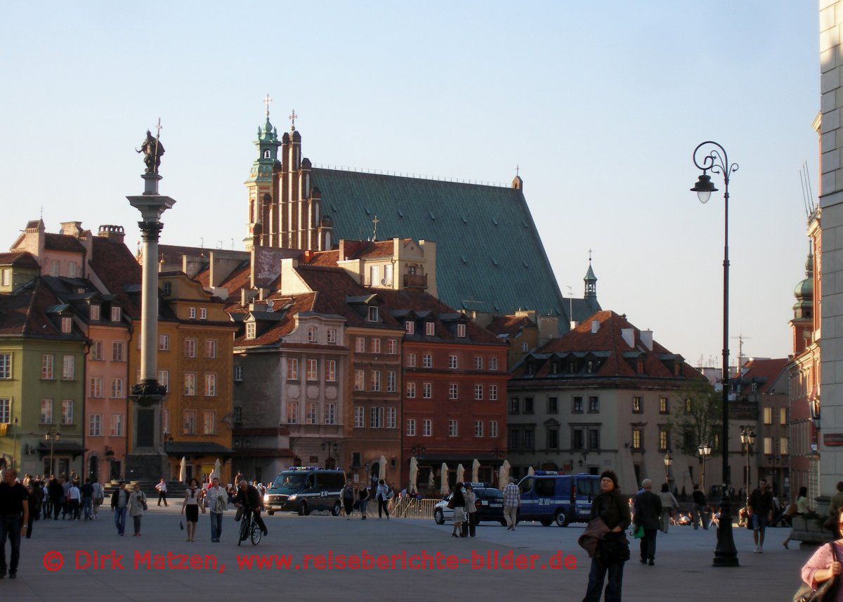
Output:
<instances>
[{"instance_id":1,"label":"steep green copper roof of the large brick church","mask_svg":"<svg viewBox=\"0 0 843 602\"><path fill-rule=\"evenodd\" d=\"M322 214L334 240L432 240L437 245L439 298L455 309L512 314L534 309L561 316L567 331L571 300L562 298L522 191L395 175L313 169ZM576 320L599 310L573 299Z\"/></svg>"}]
</instances>

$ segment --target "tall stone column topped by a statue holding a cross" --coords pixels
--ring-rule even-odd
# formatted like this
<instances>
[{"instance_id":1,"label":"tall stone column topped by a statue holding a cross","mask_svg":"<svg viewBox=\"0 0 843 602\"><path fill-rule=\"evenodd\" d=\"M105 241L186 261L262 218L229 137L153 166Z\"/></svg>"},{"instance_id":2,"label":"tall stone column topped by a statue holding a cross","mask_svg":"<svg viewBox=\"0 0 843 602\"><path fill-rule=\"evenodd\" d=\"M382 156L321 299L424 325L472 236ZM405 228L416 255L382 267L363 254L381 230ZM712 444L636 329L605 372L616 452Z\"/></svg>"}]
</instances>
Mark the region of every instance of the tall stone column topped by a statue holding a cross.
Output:
<instances>
[{"instance_id":1,"label":"tall stone column topped by a statue holding a cross","mask_svg":"<svg viewBox=\"0 0 843 602\"><path fill-rule=\"evenodd\" d=\"M161 121L158 120L158 134ZM161 400L166 388L158 384L158 237L164 224L161 215L175 201L158 194L158 167L164 146L159 137L147 132L141 150L146 172L143 194L126 196L132 207L141 212L137 223L143 238L143 266L141 287L141 379L132 385L130 414L132 438L126 454L126 479L157 482L162 476L169 479L167 454L161 438Z\"/></svg>"}]
</instances>

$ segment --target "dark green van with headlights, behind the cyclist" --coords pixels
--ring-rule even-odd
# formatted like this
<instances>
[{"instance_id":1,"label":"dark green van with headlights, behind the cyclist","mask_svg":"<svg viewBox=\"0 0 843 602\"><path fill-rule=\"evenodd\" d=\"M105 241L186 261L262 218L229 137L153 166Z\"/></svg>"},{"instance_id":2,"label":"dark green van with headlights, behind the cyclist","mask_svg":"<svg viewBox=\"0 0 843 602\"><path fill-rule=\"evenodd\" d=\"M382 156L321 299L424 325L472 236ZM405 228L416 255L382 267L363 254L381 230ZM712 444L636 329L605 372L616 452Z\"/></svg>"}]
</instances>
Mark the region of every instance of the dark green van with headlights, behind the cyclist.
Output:
<instances>
[{"instance_id":1,"label":"dark green van with headlights, behind the cyclist","mask_svg":"<svg viewBox=\"0 0 843 602\"><path fill-rule=\"evenodd\" d=\"M288 466L266 489L264 507L270 516L277 512L298 512L299 516L306 516L314 510L330 510L334 516L339 516L340 492L344 486L344 470Z\"/></svg>"}]
</instances>

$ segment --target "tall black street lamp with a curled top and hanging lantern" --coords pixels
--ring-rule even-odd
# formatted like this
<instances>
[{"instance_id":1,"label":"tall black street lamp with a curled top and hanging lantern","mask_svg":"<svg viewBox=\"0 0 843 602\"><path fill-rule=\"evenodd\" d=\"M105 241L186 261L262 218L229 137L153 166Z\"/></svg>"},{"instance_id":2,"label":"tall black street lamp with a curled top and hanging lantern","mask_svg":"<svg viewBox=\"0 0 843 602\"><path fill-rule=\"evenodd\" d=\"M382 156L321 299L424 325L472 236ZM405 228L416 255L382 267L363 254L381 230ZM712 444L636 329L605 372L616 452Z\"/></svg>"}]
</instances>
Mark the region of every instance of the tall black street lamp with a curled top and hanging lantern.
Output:
<instances>
[{"instance_id":1,"label":"tall black street lamp with a curled top and hanging lantern","mask_svg":"<svg viewBox=\"0 0 843 602\"><path fill-rule=\"evenodd\" d=\"M704 148L701 152L701 148ZM701 203L711 198L717 188L711 182L712 174L723 178L723 417L722 417L722 454L723 454L723 489L720 497L720 523L717 526L717 547L714 550L715 567L737 567L738 549L735 547L732 533L732 504L728 496L729 481L729 177L738 171L738 164L729 163L726 149L717 142L708 140L694 149L694 164L702 170L699 180L691 191L695 191Z\"/></svg>"}]
</instances>

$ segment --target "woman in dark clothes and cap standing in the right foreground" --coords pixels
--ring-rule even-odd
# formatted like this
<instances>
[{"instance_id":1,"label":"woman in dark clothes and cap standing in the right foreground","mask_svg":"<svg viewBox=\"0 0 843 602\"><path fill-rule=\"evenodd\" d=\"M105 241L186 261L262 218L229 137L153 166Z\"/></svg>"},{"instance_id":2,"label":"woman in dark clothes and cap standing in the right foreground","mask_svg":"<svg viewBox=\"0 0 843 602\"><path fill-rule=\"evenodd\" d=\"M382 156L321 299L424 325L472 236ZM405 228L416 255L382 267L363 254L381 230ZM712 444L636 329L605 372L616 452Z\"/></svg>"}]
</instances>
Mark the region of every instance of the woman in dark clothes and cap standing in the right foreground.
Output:
<instances>
[{"instance_id":1,"label":"woman in dark clothes and cap standing in the right foreground","mask_svg":"<svg viewBox=\"0 0 843 602\"><path fill-rule=\"evenodd\" d=\"M605 602L620 602L624 563L630 557L625 531L630 526L631 515L629 503L620 495L618 476L613 470L604 470L600 475L600 492L591 504L590 520L598 518L608 530L599 538L594 549L583 602L599 602L607 572L609 583L606 584Z\"/></svg>"}]
</instances>

